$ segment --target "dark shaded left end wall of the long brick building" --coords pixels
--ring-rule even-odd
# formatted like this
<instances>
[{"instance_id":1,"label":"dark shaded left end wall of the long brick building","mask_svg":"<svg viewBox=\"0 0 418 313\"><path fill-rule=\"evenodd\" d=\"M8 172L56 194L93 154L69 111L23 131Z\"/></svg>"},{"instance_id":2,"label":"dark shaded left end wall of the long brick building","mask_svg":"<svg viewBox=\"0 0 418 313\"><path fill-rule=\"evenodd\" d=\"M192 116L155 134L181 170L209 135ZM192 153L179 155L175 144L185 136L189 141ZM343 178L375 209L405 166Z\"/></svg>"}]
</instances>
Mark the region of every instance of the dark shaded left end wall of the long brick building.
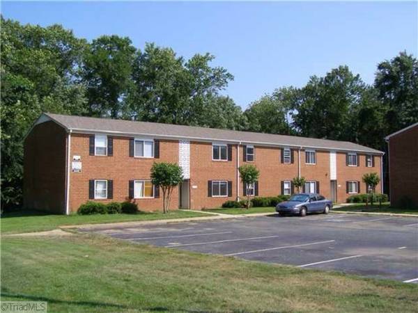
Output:
<instances>
[{"instance_id":1,"label":"dark shaded left end wall of the long brick building","mask_svg":"<svg viewBox=\"0 0 418 313\"><path fill-rule=\"evenodd\" d=\"M66 137L65 130L54 122L36 125L26 137L24 208L65 212Z\"/></svg>"}]
</instances>

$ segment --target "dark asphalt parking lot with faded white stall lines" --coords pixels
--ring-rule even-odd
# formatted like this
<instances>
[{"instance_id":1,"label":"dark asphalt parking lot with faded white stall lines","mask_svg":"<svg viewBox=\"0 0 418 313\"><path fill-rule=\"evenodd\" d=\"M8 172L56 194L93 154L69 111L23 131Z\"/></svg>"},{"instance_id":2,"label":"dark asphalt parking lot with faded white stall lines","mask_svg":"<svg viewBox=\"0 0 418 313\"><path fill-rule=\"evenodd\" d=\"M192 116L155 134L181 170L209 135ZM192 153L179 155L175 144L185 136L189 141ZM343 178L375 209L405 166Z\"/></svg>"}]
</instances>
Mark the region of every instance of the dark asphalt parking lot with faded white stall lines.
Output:
<instances>
[{"instance_id":1,"label":"dark asphalt parking lot with faded white stall lines","mask_svg":"<svg viewBox=\"0 0 418 313\"><path fill-rule=\"evenodd\" d=\"M274 214L81 231L170 249L418 283L418 218Z\"/></svg>"}]
</instances>

